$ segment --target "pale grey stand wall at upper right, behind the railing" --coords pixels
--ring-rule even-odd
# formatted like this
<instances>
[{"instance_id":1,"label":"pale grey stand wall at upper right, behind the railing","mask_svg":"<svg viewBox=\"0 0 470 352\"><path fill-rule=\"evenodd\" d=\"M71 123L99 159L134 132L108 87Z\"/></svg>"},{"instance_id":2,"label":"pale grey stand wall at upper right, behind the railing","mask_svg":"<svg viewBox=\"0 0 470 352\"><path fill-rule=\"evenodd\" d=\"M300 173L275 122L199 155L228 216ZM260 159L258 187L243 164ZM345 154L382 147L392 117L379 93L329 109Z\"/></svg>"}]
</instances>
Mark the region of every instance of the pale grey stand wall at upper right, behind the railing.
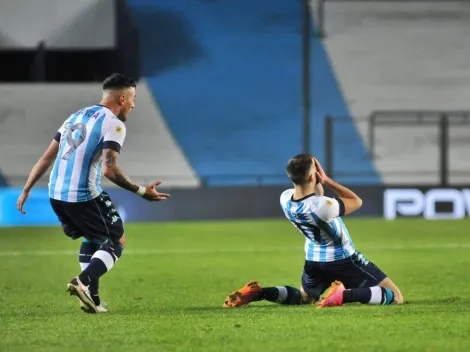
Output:
<instances>
[{"instance_id":1,"label":"pale grey stand wall at upper right, behind the railing","mask_svg":"<svg viewBox=\"0 0 470 352\"><path fill-rule=\"evenodd\" d=\"M324 45L364 139L369 126L361 118L374 111L470 110L469 17L468 1L326 2ZM383 131L374 165L384 183L436 182L437 128L404 124ZM453 170L470 170L468 124L449 132ZM348 145L338 142L347 154ZM403 168L404 175L396 172ZM451 174L451 182L466 183L468 173L460 174Z\"/></svg>"}]
</instances>

